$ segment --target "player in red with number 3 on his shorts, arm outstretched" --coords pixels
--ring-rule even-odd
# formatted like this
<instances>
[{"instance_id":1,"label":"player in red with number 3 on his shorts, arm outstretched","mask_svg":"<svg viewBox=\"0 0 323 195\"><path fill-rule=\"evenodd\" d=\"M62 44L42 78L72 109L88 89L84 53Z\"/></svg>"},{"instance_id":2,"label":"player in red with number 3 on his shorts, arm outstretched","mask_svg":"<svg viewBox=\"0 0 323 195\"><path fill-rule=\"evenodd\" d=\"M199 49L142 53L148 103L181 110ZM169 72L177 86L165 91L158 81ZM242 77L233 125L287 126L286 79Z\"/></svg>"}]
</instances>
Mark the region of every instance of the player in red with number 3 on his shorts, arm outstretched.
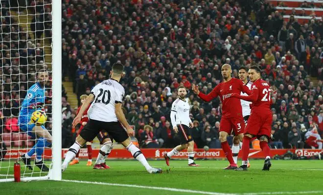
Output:
<instances>
[{"instance_id":1,"label":"player in red with number 3 on his shorts, arm outstretched","mask_svg":"<svg viewBox=\"0 0 323 195\"><path fill-rule=\"evenodd\" d=\"M248 87L237 78L231 78L231 65L224 64L221 68L223 82L218 84L208 95L200 92L198 86L192 86L192 90L204 101L211 101L212 99L220 96L222 101L222 117L220 121L220 137L221 147L230 162L230 165L224 169L233 170L237 168L234 163L231 148L227 142L227 137L231 134L233 129L234 135L238 135L240 141L243 138L245 129L245 122L242 117L241 102L237 98L230 98L233 93L240 94L241 92L250 94Z\"/></svg>"}]
</instances>

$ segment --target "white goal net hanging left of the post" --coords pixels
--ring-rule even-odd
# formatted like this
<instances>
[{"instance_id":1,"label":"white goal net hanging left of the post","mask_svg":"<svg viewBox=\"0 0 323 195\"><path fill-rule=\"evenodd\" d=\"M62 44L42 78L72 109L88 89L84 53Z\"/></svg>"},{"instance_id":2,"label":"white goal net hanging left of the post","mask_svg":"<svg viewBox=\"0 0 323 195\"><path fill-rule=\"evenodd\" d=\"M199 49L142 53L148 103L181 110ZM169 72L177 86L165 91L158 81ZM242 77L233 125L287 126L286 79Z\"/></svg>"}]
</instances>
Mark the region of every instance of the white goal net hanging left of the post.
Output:
<instances>
[{"instance_id":1,"label":"white goal net hanging left of the post","mask_svg":"<svg viewBox=\"0 0 323 195\"><path fill-rule=\"evenodd\" d=\"M14 180L17 162L21 180L49 179L53 173L52 146L61 147L60 141L55 144L51 136L36 136L33 131L41 126L35 127L30 116L43 110L47 116L43 127L51 135L61 131L52 123L52 118L61 115L56 111L53 115L54 94L61 97L61 92L57 94L61 91L61 77L55 80L53 70L55 65L61 65L54 64L52 58L52 0L0 0L0 15L0 181ZM42 69L48 71L45 81L37 77Z\"/></svg>"}]
</instances>

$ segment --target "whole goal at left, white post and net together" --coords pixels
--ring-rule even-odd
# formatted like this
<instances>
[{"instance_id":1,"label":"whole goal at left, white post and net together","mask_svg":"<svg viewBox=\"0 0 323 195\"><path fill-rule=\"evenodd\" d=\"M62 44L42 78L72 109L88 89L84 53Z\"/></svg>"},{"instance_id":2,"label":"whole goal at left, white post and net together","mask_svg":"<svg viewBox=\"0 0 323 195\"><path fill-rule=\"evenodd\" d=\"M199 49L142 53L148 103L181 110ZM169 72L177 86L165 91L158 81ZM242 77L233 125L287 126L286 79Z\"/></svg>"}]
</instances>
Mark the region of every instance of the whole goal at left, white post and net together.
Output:
<instances>
[{"instance_id":1,"label":"whole goal at left, white post and net together","mask_svg":"<svg viewBox=\"0 0 323 195\"><path fill-rule=\"evenodd\" d=\"M61 9L60 0L0 0L0 182L14 181L16 162L21 166L21 181L62 179ZM26 108L23 100L27 93L29 97L28 89L40 69L49 73L43 85L43 109L48 117L44 126L52 135L51 144L45 140L43 147L37 145L40 137L28 136L18 124L22 124L20 111ZM33 146L29 170L19 157ZM48 172L36 166L40 148Z\"/></svg>"}]
</instances>

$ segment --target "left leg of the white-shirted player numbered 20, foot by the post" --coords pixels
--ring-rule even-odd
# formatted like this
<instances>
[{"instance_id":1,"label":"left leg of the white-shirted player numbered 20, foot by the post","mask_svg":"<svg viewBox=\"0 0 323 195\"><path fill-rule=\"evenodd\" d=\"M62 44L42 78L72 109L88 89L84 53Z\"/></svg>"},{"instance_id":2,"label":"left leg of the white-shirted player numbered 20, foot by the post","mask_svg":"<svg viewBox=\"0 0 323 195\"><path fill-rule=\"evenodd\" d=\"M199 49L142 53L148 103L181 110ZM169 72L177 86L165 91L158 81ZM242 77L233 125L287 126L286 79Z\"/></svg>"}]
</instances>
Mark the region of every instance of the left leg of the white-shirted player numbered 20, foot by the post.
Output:
<instances>
[{"instance_id":1,"label":"left leg of the white-shirted player numbered 20, foot by the post","mask_svg":"<svg viewBox=\"0 0 323 195\"><path fill-rule=\"evenodd\" d=\"M89 122L84 126L80 135L76 137L75 143L69 148L69 151L66 154L64 162L62 164L62 172L66 170L69 161L71 161L76 156L81 147L84 146L87 141L92 141L93 138L97 135L97 133L99 132L98 122L100 121L90 119Z\"/></svg>"}]
</instances>

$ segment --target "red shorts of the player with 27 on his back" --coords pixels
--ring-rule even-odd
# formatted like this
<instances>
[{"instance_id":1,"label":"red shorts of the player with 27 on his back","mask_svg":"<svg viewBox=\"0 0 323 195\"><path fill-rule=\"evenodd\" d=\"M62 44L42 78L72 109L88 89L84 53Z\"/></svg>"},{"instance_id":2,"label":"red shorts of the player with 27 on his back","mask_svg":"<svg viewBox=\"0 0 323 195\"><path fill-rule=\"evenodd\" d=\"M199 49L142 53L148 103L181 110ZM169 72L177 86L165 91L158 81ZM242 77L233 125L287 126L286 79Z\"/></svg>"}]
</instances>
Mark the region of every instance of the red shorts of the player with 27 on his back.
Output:
<instances>
[{"instance_id":1,"label":"red shorts of the player with 27 on his back","mask_svg":"<svg viewBox=\"0 0 323 195\"><path fill-rule=\"evenodd\" d=\"M265 135L270 138L272 122L273 114L271 112L252 112L248 119L248 125L244 133L257 137Z\"/></svg>"}]
</instances>

